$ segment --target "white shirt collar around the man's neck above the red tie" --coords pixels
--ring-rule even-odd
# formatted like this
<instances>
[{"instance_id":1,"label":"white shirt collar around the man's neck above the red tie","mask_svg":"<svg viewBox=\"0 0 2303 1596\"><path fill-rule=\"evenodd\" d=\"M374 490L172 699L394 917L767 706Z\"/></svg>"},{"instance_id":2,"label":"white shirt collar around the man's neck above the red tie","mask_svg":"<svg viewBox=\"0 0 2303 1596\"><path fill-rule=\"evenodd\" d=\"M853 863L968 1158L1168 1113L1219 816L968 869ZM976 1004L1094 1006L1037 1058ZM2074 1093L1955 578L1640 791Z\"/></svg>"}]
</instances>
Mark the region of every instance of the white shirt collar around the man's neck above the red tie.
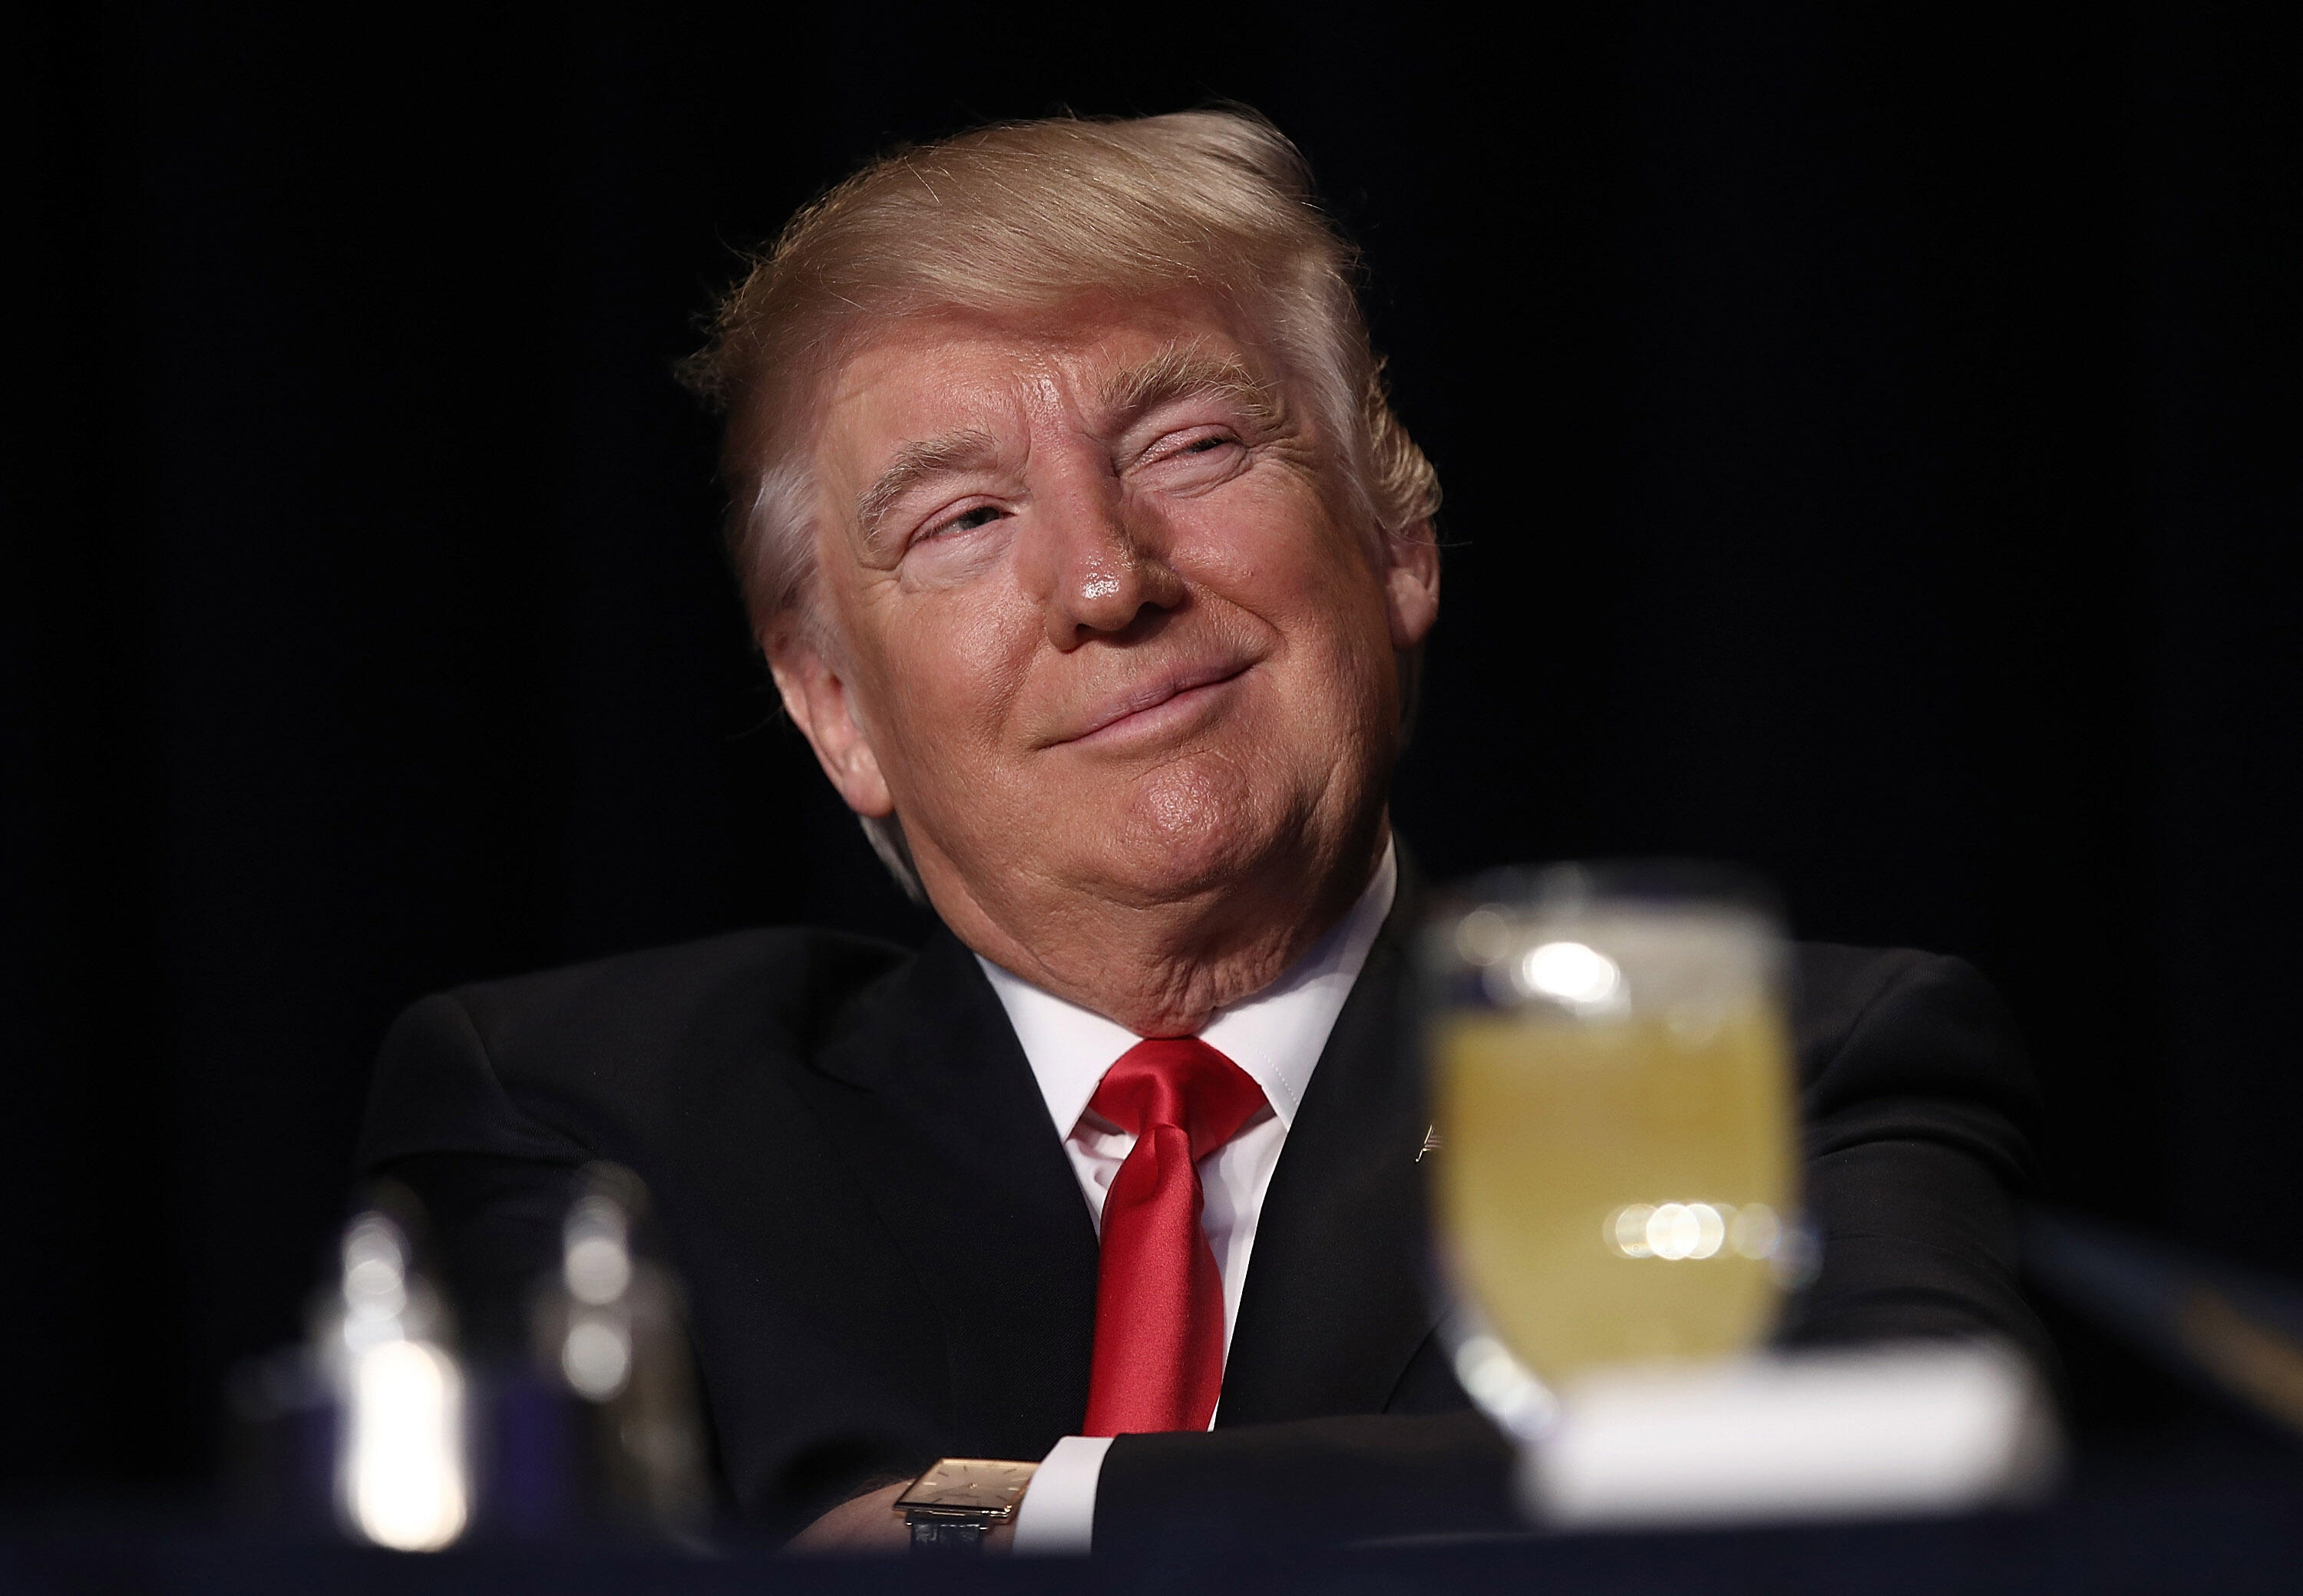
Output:
<instances>
[{"instance_id":1,"label":"white shirt collar around the man's neck above the red tie","mask_svg":"<svg viewBox=\"0 0 2303 1596\"><path fill-rule=\"evenodd\" d=\"M1283 1126L1294 1122L1320 1052L1327 1050L1327 1034L1336 1029L1343 1000L1352 995L1352 983L1368 963L1368 949L1375 947L1375 933L1391 914L1398 880L1400 868L1386 843L1375 877L1350 914L1290 965L1287 974L1255 997L1218 1011L1200 1032L1207 1046L1239 1064L1264 1089ZM1142 1039L1092 1009L1039 990L981 953L976 963L983 965L1009 1025L1016 1027L1016 1041L1023 1043L1039 1092L1048 1101L1055 1133L1071 1135L1103 1082L1103 1071Z\"/></svg>"}]
</instances>

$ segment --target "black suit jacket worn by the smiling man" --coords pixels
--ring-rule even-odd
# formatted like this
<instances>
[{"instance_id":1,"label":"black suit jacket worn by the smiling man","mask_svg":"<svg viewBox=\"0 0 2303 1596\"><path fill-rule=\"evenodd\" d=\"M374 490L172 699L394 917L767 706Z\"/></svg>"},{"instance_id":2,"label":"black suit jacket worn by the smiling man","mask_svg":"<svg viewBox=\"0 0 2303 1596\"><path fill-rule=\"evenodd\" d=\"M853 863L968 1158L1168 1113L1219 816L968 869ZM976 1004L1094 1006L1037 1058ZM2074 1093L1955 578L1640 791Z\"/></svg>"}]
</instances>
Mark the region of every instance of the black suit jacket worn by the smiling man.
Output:
<instances>
[{"instance_id":1,"label":"black suit jacket worn by the smiling man","mask_svg":"<svg viewBox=\"0 0 2303 1596\"><path fill-rule=\"evenodd\" d=\"M1218 1428L1112 1446L1099 1552L1511 1522L1506 1451L1467 1412L1423 1285L1409 898L1271 1177ZM1990 990L1951 958L1840 947L1803 947L1796 990L1824 1262L1785 1333L2040 1347L2008 1207L2031 1096ZM917 956L753 930L428 997L385 1041L359 1156L426 1200L468 1304L518 1301L557 1260L578 1165L638 1170L689 1285L725 1488L762 1527L1080 1428L1096 1234L947 930Z\"/></svg>"}]
</instances>

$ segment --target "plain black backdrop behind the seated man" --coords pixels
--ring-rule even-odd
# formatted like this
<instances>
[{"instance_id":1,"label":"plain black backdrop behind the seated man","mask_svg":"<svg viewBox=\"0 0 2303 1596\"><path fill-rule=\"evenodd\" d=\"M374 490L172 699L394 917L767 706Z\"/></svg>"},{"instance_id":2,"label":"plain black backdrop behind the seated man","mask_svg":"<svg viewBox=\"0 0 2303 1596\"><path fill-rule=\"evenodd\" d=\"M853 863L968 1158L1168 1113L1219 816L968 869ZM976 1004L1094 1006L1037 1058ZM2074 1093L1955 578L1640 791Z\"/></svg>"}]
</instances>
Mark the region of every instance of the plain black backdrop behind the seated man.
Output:
<instances>
[{"instance_id":1,"label":"plain black backdrop behind the seated man","mask_svg":"<svg viewBox=\"0 0 2303 1596\"><path fill-rule=\"evenodd\" d=\"M1449 491L1435 873L1723 854L1964 953L2050 1195L2303 1271L2282 9L18 18L0 1472L212 1467L412 997L914 930L668 366L861 157L1059 106L1251 101L1366 242Z\"/></svg>"}]
</instances>

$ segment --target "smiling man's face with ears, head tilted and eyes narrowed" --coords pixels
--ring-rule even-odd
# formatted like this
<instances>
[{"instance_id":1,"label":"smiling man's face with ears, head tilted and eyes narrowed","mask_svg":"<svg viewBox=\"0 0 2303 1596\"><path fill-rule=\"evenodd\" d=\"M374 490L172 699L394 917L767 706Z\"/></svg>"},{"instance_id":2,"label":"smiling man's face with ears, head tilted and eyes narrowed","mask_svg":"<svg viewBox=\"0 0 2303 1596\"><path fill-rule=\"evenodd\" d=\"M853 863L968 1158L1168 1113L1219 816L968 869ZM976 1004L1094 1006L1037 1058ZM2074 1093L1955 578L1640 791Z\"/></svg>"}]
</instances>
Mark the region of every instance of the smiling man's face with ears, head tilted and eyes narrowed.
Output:
<instances>
[{"instance_id":1,"label":"smiling man's face with ears, head tilted and eyes narrowed","mask_svg":"<svg viewBox=\"0 0 2303 1596\"><path fill-rule=\"evenodd\" d=\"M898 322L827 385L827 643L769 652L947 917L1175 903L1373 836L1437 564L1345 520L1313 428L1204 304Z\"/></svg>"}]
</instances>

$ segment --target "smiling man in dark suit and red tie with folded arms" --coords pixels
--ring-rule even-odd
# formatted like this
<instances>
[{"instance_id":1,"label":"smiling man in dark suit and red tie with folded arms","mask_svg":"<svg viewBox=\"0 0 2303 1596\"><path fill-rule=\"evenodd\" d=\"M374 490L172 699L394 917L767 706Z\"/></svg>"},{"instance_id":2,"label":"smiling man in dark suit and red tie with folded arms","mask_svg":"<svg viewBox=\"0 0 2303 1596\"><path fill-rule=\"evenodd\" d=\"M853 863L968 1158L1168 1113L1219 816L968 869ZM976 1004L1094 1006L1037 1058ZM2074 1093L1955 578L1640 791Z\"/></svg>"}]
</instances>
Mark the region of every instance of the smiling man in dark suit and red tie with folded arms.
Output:
<instances>
[{"instance_id":1,"label":"smiling man in dark suit and red tie with folded arms","mask_svg":"<svg viewBox=\"0 0 2303 1596\"><path fill-rule=\"evenodd\" d=\"M940 1456L1041 1462L1046 1550L1508 1522L1398 1039L1437 481L1350 272L1232 113L981 129L801 212L693 375L783 702L942 926L465 988L385 1046L364 1163L468 1271L541 1267L592 1158L649 1181L730 1497L804 1545L900 1543ZM2034 1338L1990 997L1801 981L1792 1333Z\"/></svg>"}]
</instances>

